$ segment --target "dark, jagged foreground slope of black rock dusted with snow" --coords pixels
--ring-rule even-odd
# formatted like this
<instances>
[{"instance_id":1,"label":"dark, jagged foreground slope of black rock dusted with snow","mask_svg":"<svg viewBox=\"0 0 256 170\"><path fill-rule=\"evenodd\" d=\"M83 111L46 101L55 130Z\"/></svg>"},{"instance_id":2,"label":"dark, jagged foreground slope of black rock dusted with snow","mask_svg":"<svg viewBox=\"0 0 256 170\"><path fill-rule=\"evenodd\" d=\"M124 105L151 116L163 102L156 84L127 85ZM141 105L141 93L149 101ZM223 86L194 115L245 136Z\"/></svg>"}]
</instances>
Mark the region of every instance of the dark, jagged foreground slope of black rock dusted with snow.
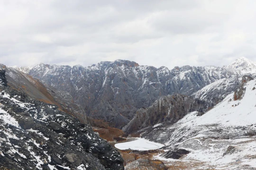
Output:
<instances>
[{"instance_id":1,"label":"dark, jagged foreground slope of black rock dusted with snow","mask_svg":"<svg viewBox=\"0 0 256 170\"><path fill-rule=\"evenodd\" d=\"M124 169L116 149L56 105L4 86L0 103L0 167Z\"/></svg>"}]
</instances>

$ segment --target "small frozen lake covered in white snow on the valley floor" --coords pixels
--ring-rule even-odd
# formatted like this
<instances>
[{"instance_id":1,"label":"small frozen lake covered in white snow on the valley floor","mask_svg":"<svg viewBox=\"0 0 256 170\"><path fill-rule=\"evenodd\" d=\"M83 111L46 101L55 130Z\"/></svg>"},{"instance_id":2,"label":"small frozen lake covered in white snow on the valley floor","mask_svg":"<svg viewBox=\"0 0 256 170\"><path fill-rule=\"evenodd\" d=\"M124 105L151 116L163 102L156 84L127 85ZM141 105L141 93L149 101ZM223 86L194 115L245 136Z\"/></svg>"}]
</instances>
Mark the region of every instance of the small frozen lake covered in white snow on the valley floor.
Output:
<instances>
[{"instance_id":1,"label":"small frozen lake covered in white snow on the valley floor","mask_svg":"<svg viewBox=\"0 0 256 170\"><path fill-rule=\"evenodd\" d=\"M115 147L120 150L131 149L131 150L140 150L146 151L151 149L159 149L164 145L161 143L151 142L143 138L134 138L135 140L130 142L123 142L115 144Z\"/></svg>"}]
</instances>

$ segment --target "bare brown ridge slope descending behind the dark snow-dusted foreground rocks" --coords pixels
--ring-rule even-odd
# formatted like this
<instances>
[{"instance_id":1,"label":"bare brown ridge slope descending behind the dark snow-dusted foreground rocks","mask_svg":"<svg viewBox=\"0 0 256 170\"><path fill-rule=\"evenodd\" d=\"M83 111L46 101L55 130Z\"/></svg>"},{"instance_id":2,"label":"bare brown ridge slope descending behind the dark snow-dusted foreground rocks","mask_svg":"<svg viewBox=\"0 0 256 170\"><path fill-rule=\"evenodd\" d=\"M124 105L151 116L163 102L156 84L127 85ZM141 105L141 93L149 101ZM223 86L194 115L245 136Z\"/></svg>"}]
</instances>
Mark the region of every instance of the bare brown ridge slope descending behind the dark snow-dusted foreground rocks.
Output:
<instances>
[{"instance_id":1,"label":"bare brown ridge slope descending behind the dark snow-dusted foreground rocks","mask_svg":"<svg viewBox=\"0 0 256 170\"><path fill-rule=\"evenodd\" d=\"M72 102L72 97L69 93L42 84L38 79L34 79L13 67L6 67L0 64L0 70L4 72L8 86L22 91L39 101L55 104L61 111L77 117L80 122L88 123L84 110L81 106Z\"/></svg>"}]
</instances>

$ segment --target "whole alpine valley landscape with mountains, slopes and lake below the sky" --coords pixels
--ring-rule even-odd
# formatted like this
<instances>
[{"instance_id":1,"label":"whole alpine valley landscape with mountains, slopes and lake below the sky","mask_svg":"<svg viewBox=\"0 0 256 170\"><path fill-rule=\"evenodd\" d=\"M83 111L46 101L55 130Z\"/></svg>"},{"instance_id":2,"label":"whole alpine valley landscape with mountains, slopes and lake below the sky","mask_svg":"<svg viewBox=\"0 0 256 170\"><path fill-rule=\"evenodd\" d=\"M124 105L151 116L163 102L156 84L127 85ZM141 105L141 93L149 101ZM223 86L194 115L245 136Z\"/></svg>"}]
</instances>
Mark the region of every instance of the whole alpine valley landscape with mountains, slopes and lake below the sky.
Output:
<instances>
[{"instance_id":1,"label":"whole alpine valley landscape with mountains, slopes and lake below the sky","mask_svg":"<svg viewBox=\"0 0 256 170\"><path fill-rule=\"evenodd\" d=\"M0 65L0 169L256 169L256 63Z\"/></svg>"}]
</instances>

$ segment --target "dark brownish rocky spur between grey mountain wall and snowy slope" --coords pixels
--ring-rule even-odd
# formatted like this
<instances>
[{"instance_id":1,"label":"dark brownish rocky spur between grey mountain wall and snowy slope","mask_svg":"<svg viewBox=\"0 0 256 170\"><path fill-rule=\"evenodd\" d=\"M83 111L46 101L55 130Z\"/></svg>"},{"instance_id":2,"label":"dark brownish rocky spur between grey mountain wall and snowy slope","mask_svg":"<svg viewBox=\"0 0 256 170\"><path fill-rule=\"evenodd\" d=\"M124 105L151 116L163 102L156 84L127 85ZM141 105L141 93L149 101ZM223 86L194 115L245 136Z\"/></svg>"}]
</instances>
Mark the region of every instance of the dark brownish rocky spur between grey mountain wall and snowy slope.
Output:
<instances>
[{"instance_id":1,"label":"dark brownish rocky spur between grey mountain wall and snowy slope","mask_svg":"<svg viewBox=\"0 0 256 170\"><path fill-rule=\"evenodd\" d=\"M180 94L163 96L152 106L139 109L122 130L125 133L132 133L162 122L174 124L189 112L204 112L211 106L213 105L210 102L194 100Z\"/></svg>"}]
</instances>

